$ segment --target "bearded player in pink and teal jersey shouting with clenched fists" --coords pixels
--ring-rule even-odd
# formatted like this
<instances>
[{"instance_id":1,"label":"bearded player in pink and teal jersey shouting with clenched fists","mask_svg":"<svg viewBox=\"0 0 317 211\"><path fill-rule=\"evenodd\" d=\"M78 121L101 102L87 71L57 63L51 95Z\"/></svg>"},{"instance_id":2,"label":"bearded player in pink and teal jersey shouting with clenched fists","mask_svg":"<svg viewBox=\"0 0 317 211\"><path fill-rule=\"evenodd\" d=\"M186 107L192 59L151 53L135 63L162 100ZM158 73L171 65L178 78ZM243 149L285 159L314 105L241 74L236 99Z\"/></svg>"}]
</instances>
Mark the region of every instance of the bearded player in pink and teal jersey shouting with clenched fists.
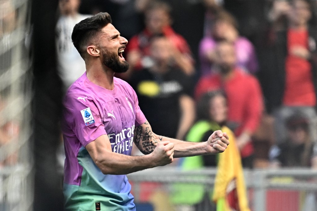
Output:
<instances>
[{"instance_id":1,"label":"bearded player in pink and teal jersey shouting with clenched fists","mask_svg":"<svg viewBox=\"0 0 317 211\"><path fill-rule=\"evenodd\" d=\"M99 13L75 25L72 40L86 72L64 101L65 210L135 210L126 174L164 166L174 157L223 152L228 136L214 132L204 143L184 142L152 132L138 99L125 81L122 53L127 40ZM130 156L132 142L144 156Z\"/></svg>"}]
</instances>

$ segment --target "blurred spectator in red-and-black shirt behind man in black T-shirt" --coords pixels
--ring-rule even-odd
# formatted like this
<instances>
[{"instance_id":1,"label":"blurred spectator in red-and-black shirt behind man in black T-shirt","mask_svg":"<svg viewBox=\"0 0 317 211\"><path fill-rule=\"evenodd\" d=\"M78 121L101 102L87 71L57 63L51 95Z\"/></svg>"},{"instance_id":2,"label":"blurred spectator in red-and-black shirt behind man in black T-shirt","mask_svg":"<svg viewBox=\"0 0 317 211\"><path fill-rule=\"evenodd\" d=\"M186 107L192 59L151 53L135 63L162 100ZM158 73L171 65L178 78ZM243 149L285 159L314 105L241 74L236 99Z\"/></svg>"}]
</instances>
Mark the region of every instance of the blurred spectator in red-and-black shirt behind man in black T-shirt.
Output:
<instances>
[{"instance_id":1,"label":"blurred spectator in red-and-black shirt behind man in black T-shirt","mask_svg":"<svg viewBox=\"0 0 317 211\"><path fill-rule=\"evenodd\" d=\"M155 35L164 35L171 40L175 66L188 75L195 72L194 61L187 42L171 28L170 12L170 6L163 2L151 2L146 7L145 29L133 36L127 45L127 60L132 70L140 70L152 65L149 59L150 39Z\"/></svg>"}]
</instances>

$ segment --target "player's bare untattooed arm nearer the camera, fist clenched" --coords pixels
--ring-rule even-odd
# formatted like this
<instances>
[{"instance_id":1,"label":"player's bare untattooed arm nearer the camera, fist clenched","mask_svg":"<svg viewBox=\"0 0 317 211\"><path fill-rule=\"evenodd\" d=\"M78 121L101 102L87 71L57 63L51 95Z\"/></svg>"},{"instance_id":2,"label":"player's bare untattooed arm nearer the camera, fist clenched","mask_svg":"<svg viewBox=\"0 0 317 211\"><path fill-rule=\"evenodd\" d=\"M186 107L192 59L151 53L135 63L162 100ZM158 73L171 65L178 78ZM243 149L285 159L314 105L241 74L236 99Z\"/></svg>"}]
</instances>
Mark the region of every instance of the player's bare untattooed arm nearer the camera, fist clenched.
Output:
<instances>
[{"instance_id":1,"label":"player's bare untattooed arm nearer the camera, fist clenched","mask_svg":"<svg viewBox=\"0 0 317 211\"><path fill-rule=\"evenodd\" d=\"M160 142L155 150L144 156L127 156L112 152L107 135L86 145L86 149L103 174L123 175L173 162L174 144Z\"/></svg>"}]
</instances>

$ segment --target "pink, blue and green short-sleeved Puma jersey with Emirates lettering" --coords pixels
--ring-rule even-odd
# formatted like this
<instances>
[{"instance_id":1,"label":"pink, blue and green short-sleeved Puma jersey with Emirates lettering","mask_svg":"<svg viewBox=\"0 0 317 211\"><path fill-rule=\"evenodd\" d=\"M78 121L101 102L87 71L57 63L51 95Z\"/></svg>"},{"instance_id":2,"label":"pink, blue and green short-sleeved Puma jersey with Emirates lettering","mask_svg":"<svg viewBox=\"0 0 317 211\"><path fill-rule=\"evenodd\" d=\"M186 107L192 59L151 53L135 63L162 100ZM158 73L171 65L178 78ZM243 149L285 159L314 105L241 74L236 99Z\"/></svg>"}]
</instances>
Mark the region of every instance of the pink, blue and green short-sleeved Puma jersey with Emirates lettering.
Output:
<instances>
[{"instance_id":1,"label":"pink, blue and green short-sleeved Puma jersey with Emirates lettering","mask_svg":"<svg viewBox=\"0 0 317 211\"><path fill-rule=\"evenodd\" d=\"M134 128L146 122L133 88L121 79L113 81L114 89L107 90L84 73L65 95L65 210L135 209L126 175L104 175L85 148L107 135L113 152L130 156Z\"/></svg>"}]
</instances>

